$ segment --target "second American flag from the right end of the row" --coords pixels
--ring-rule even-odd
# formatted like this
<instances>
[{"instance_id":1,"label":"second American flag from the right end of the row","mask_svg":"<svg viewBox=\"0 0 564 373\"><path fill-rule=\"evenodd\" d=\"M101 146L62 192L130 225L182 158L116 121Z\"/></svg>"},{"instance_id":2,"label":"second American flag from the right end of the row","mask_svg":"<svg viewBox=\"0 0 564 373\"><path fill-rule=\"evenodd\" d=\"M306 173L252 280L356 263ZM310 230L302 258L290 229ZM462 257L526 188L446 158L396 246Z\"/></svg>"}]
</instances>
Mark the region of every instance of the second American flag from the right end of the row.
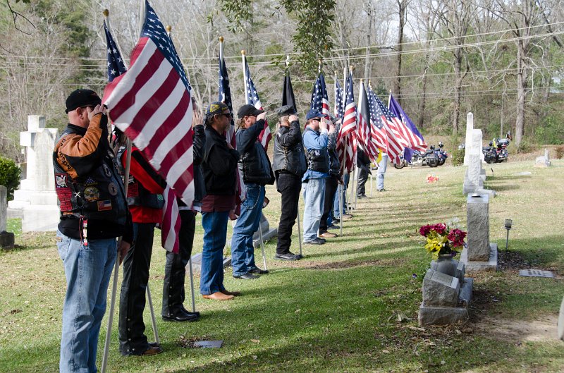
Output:
<instances>
[{"instance_id":1,"label":"second American flag from the right end of the row","mask_svg":"<svg viewBox=\"0 0 564 373\"><path fill-rule=\"evenodd\" d=\"M391 117L386 116L386 111L389 113L388 108L382 104L374 92L370 93L372 96L372 141L376 147L386 152L393 162L397 162L403 152L403 142L390 129Z\"/></svg>"}]
</instances>

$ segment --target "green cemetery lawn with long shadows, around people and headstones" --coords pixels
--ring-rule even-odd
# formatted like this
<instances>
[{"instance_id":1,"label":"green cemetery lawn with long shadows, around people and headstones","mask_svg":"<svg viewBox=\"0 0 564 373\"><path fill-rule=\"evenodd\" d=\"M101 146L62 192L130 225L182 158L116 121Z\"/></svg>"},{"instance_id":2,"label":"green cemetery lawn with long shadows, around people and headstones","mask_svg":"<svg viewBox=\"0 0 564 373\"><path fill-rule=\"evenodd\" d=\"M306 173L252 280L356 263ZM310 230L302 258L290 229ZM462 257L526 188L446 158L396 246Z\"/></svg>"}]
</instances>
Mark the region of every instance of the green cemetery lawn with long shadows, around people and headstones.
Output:
<instances>
[{"instance_id":1,"label":"green cemetery lawn with long shadows, around people and headstones","mask_svg":"<svg viewBox=\"0 0 564 373\"><path fill-rule=\"evenodd\" d=\"M564 162L553 161L549 169L532 164L494 165L495 176L486 181L487 188L498 190L489 207L490 237L504 249L503 221L513 219L512 255L519 255L523 268L550 269L558 276L564 271ZM161 355L121 357L116 312L109 372L561 372L564 349L554 336L515 343L477 331L484 316L522 321L553 317L564 295L560 277L520 277L517 267L479 274L472 309L476 324L417 326L422 277L430 262L417 228L453 216L465 222L464 171L448 166L389 169L389 191L374 188L373 198L357 203L344 235L326 245L304 246L300 262L274 261L276 240L271 240L265 247L270 274L238 281L231 268L226 270L226 288L242 291L242 296L228 302L197 297L202 317L195 323L157 320ZM532 175L516 175L522 171ZM428 173L439 176L439 182L425 183ZM367 187L370 195L369 183ZM278 193L269 187L266 194L271 204L265 214L276 226ZM18 247L0 254L0 372L56 372L66 285L54 233L20 233L17 220L8 221L8 227L16 232ZM297 234L293 238L292 250L298 252ZM149 280L157 314L164 275L159 243L157 233ZM194 247L201 251L199 225ZM260 250L256 252L262 263ZM188 281L186 286L190 308ZM398 312L409 319L398 322ZM145 320L152 339L148 310ZM107 317L99 363L106 322ZM221 339L223 347L181 346L204 338Z\"/></svg>"}]
</instances>

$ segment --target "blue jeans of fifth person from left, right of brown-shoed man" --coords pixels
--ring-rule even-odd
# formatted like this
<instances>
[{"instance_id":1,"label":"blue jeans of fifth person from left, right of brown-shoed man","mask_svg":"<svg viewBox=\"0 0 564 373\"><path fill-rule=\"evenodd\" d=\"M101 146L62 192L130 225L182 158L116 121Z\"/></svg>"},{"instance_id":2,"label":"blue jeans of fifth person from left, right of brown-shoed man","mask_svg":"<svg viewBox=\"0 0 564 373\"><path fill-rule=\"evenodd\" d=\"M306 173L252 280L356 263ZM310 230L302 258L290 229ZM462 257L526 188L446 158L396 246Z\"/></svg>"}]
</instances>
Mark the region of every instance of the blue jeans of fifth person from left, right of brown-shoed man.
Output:
<instances>
[{"instance_id":1,"label":"blue jeans of fifth person from left, right of brown-shoed man","mask_svg":"<svg viewBox=\"0 0 564 373\"><path fill-rule=\"evenodd\" d=\"M241 204L241 214L233 227L233 238L231 238L233 276L241 276L257 268L252 235L258 230L262 216L264 186L250 183L245 184L245 188L247 199Z\"/></svg>"}]
</instances>

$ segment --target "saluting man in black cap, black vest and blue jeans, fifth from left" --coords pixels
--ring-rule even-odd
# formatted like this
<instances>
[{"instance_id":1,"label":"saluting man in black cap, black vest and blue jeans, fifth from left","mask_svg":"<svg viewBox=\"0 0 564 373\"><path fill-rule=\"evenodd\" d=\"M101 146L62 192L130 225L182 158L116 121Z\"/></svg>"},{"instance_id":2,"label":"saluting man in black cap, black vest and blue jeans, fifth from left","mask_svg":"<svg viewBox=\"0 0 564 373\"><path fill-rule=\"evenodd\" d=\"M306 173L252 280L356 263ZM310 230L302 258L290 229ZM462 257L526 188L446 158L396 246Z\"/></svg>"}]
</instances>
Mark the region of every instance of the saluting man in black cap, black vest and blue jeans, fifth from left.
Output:
<instances>
[{"instance_id":1,"label":"saluting man in black cap, black vest and blue jeans, fifth from left","mask_svg":"<svg viewBox=\"0 0 564 373\"><path fill-rule=\"evenodd\" d=\"M235 279L257 279L267 273L255 264L255 245L252 236L259 228L264 202L264 185L274 184L274 173L269 157L258 137L264 129L266 113L252 105L240 107L237 116L237 151L240 154L239 171L247 198L241 203L241 214L233 227L231 239L231 267Z\"/></svg>"}]
</instances>

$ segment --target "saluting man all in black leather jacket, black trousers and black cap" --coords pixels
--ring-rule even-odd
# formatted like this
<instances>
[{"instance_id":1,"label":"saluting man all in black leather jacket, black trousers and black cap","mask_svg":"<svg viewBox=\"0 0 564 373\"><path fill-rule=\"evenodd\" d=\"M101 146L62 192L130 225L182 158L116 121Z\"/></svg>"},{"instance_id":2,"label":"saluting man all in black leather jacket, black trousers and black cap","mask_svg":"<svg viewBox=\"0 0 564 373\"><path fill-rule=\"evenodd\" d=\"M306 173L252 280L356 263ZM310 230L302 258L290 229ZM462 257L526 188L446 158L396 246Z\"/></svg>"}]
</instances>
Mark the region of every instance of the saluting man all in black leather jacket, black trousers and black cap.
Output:
<instances>
[{"instance_id":1,"label":"saluting man all in black leather jacket, black trousers and black cap","mask_svg":"<svg viewBox=\"0 0 564 373\"><path fill-rule=\"evenodd\" d=\"M300 255L290 252L292 227L298 216L298 202L302 188L302 176L307 169L302 131L298 116L291 105L276 111L279 128L274 135L274 173L276 190L282 198L282 212L278 224L278 243L275 259L298 260Z\"/></svg>"}]
</instances>

